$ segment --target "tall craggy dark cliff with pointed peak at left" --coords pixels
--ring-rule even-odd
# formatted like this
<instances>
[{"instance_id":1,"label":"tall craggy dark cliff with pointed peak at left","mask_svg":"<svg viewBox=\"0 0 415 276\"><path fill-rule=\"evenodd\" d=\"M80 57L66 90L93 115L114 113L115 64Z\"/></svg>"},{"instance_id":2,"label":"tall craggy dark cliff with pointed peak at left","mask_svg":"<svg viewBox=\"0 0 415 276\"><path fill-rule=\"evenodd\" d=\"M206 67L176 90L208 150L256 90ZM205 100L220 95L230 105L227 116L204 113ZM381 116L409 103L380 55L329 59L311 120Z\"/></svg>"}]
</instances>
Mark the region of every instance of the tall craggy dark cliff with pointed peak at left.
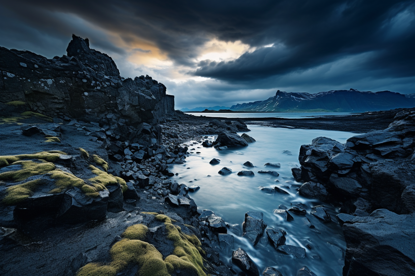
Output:
<instances>
[{"instance_id":1,"label":"tall craggy dark cliff with pointed peak at left","mask_svg":"<svg viewBox=\"0 0 415 276\"><path fill-rule=\"evenodd\" d=\"M143 123L153 125L174 111L174 96L166 95L166 86L149 76L120 77L112 58L90 49L88 39L73 35L66 51L47 59L0 47L1 113L5 103L22 101L33 112L109 125L131 139Z\"/></svg>"}]
</instances>

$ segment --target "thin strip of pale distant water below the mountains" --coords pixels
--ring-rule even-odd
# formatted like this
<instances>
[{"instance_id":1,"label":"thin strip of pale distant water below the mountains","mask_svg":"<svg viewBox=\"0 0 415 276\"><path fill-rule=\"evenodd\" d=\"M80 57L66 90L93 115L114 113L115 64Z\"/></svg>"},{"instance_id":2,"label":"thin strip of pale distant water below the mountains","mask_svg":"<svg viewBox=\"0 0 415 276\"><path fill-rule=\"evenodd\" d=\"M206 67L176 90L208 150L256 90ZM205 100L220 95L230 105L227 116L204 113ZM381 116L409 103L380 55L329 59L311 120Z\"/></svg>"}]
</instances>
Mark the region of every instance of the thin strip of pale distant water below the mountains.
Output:
<instances>
[{"instance_id":1,"label":"thin strip of pale distant water below the mountains","mask_svg":"<svg viewBox=\"0 0 415 276\"><path fill-rule=\"evenodd\" d=\"M299 119L321 116L345 116L352 113L342 112L248 112L248 113L186 113L194 116L223 117L223 118L285 118Z\"/></svg>"}]
</instances>

